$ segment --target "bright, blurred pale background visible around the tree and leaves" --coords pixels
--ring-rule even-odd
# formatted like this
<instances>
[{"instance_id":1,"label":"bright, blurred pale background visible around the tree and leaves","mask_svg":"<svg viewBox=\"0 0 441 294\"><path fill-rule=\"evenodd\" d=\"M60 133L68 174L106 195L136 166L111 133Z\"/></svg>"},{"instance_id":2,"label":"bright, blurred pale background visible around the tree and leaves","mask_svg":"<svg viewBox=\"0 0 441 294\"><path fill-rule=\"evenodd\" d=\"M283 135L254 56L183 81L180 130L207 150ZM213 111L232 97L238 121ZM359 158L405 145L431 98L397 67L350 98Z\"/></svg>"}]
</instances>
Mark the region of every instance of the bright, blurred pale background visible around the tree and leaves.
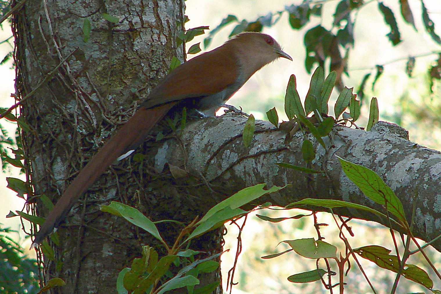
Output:
<instances>
[{"instance_id":1,"label":"bright, blurred pale background visible around the tree and leaves","mask_svg":"<svg viewBox=\"0 0 441 294\"><path fill-rule=\"evenodd\" d=\"M266 120L265 112L276 107L281 120L286 120L284 116L284 95L289 76L295 74L297 78L297 89L301 98L304 99L309 88L310 74L305 70L305 46L303 37L307 30L318 24L327 29L332 27L333 14L339 1L314 1L323 3L322 17L311 16L310 23L302 29L294 30L289 25L288 14L281 14L281 19L276 25L267 28L263 32L273 36L284 48L284 51L292 56L293 62L287 59L280 59L269 66L265 66L255 74L244 87L239 90L228 101L235 107L242 107L243 111L254 114L256 119ZM386 1L396 16L396 22L400 28L402 41L392 46L386 35L390 28L386 26L383 16L378 11L377 1L366 1L362 9L357 13L357 21L354 27L355 43L354 48L348 56L349 77L343 75L343 85L348 88L354 87L354 92L359 88L363 77L372 73L367 80L365 87L366 98L363 102L361 116L358 125L365 126L369 116L369 102L371 97L377 97L380 120L396 123L409 131L410 140L426 147L440 150L440 86L438 81L430 85L428 70L434 66L434 61L438 59L436 53L440 52L441 46L434 42L430 35L425 32L422 22L422 6L419 0L409 0L409 5L415 18L415 30L408 23L404 22L400 15L400 5L398 0ZM299 5L300 1L289 0L187 0L186 15L190 19L186 28L190 29L198 26L209 26L210 29L219 25L227 15L235 15L239 22L242 19L248 21L255 20L258 16L268 13L283 11L285 5ZM435 32L441 34L441 5L439 0L424 0L424 4L429 12L430 19L434 22ZM221 45L232 29L237 25L232 23L225 26L219 33L215 34L208 48L202 51L212 50ZM13 50L13 40L11 29L7 22L2 25L0 31L0 59ZM187 44L190 48L192 44L202 42L206 35L198 36ZM7 41L4 41L7 40ZM409 56L421 56L416 58L415 69L412 77L406 74L406 62ZM191 58L188 55L187 58ZM329 63L329 61L327 61ZM384 72L379 77L375 86L372 87L376 74L376 65L384 65ZM315 66L314 66L315 68ZM325 75L329 74L325 71ZM11 60L0 66L0 77L2 87L0 88L0 107L8 108L14 100L10 97L14 89L15 72L12 68ZM337 91L334 90L329 102L329 109L333 109ZM15 124L2 120L1 125L13 136ZM6 188L6 176L19 177L18 169L9 169L2 173L0 183L1 199L4 203L0 206L0 223L2 227L10 227L19 233L11 234L11 238L22 244L24 248L29 248L30 240L26 240L22 232L21 223L17 217L6 218L10 210L21 210L24 200ZM296 214L309 214L307 211L289 210L278 212L277 210L266 209L260 211L270 217L291 217ZM325 236L325 241L334 245L339 244L338 230L331 215L326 213L318 214L320 223L329 224L322 228L321 233ZM392 250L393 244L389 230L380 225L365 221L351 221L349 224L355 237L350 238L352 248L359 246L377 244ZM225 249L230 251L222 257L222 270L224 279L224 289L226 289L226 277L228 270L232 267L237 243L238 230L235 225L228 226L228 235L225 236ZM265 236L265 238L262 238ZM299 257L295 253L284 254L269 260L260 257L282 252L289 249L287 244L280 241L315 238L312 217L302 217L299 220L288 220L277 224L259 220L253 214L248 216L247 225L241 235L243 251L239 257L235 269L234 282L239 282L233 287L232 293L329 293L329 290L321 285L320 282L308 284L295 284L287 280L287 277L308 270L315 269L315 261ZM341 246L341 248L344 248ZM34 255L33 251L29 252ZM417 254L415 254L417 255ZM441 268L441 255L436 251L428 253L437 268ZM419 257L410 260L413 264L428 268ZM372 293L364 280L363 276L356 269L354 263L345 281L348 283L347 293ZM390 272L378 268L370 262L363 261L363 268L367 272L378 293L389 293L392 286L394 275ZM334 270L337 268L334 267ZM431 277L434 274L429 272ZM436 283L435 289L441 288L441 284ZM402 278L400 280L400 290L397 293L425 292L424 287L409 282Z\"/></svg>"}]
</instances>

